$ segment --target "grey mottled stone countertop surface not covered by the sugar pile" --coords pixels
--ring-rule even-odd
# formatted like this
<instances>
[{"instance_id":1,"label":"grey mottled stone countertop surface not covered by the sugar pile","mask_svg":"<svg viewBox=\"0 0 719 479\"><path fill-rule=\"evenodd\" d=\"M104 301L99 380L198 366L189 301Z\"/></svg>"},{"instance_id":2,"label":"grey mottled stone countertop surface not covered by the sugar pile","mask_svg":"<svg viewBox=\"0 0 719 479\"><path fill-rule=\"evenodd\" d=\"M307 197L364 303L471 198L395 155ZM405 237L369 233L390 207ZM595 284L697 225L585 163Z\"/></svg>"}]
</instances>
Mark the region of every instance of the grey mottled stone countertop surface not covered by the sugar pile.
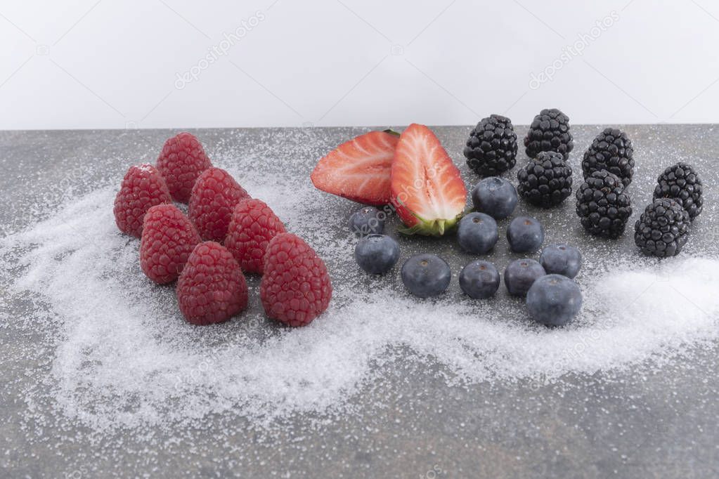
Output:
<instances>
[{"instance_id":1,"label":"grey mottled stone countertop surface not covered by the sugar pile","mask_svg":"<svg viewBox=\"0 0 719 479\"><path fill-rule=\"evenodd\" d=\"M600 126L572 126L572 165ZM691 251L717 254L719 126L624 126L636 149L634 192L651 197L656 175L679 157L697 158L707 208L693 226ZM201 130L211 151L229 131ZM281 129L248 129L244 139L272 148ZM339 144L365 129L306 129L300 141ZM436 132L457 164L469 126ZM518 126L521 138L526 126ZM1 131L0 190L4 233L34 221L27 212L60 201L68 187L90 190L122 177L127 164L110 158L152 161L174 131ZM518 164L525 161L520 148ZM288 158L301 174L316 157ZM466 173L466 167L462 170ZM635 205L635 215L644 201ZM572 205L573 206L573 205ZM352 210L349 203L347 213ZM557 217L541 220L551 228ZM338 228L339 230L339 228ZM338 231L337 234L344 234ZM574 234L574 233L572 233ZM591 238L577 233L580 248ZM620 246L633 247L631 234ZM596 246L595 243L592 243ZM445 248L444 246L441 246ZM592 251L600 251L593 248ZM446 249L452 258L452 251ZM498 258L506 259L506 252ZM590 258L592 260L592 258ZM451 259L453 266L459 259ZM0 273L0 275L7 273ZM13 322L32 312L31 302L7 299L0 282L0 475L4 477L553 477L715 478L719 476L719 345L696 348L664 366L567 374L561 383L477 383L447 386L441 367L403 361L400 351L377 366L352 414L319 422L298 415L262 431L242 416L206 417L201 427L119 430L98 434L55 417L53 342L45 333ZM27 351L35 353L28 354ZM646 367L645 367L646 366ZM651 367L650 367L651 366ZM28 391L35 391L29 394ZM377 404L382 406L377 407Z\"/></svg>"}]
</instances>

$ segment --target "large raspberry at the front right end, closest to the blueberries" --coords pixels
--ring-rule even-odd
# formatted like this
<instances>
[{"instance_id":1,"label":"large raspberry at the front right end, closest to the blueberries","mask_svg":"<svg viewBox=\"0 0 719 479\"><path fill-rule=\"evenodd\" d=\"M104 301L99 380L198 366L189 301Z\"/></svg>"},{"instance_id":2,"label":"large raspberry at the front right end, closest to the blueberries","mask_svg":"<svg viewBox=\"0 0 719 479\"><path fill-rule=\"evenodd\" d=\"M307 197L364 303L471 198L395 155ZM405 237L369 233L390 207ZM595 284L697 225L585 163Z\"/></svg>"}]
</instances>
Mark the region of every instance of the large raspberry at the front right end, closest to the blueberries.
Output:
<instances>
[{"instance_id":1,"label":"large raspberry at the front right end, closest to the blueberries","mask_svg":"<svg viewBox=\"0 0 719 479\"><path fill-rule=\"evenodd\" d=\"M308 325L327 309L331 297L324 261L302 238L280 233L270 240L260 282L267 316L290 326Z\"/></svg>"}]
</instances>

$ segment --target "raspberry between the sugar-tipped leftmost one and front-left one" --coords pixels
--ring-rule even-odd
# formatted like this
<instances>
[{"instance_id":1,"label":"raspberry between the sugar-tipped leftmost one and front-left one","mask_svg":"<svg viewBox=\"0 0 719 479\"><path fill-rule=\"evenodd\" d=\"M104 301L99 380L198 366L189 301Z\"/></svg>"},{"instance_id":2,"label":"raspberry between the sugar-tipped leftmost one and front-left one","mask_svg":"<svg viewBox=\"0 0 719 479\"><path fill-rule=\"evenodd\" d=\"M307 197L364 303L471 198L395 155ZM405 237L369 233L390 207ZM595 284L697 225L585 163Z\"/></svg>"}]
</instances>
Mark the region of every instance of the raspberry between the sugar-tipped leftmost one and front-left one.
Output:
<instances>
[{"instance_id":1,"label":"raspberry between the sugar-tipped leftmost one and front-left one","mask_svg":"<svg viewBox=\"0 0 719 479\"><path fill-rule=\"evenodd\" d=\"M147 210L139 243L139 265L158 284L175 281L188 256L202 241L197 230L175 205L156 205Z\"/></svg>"}]
</instances>

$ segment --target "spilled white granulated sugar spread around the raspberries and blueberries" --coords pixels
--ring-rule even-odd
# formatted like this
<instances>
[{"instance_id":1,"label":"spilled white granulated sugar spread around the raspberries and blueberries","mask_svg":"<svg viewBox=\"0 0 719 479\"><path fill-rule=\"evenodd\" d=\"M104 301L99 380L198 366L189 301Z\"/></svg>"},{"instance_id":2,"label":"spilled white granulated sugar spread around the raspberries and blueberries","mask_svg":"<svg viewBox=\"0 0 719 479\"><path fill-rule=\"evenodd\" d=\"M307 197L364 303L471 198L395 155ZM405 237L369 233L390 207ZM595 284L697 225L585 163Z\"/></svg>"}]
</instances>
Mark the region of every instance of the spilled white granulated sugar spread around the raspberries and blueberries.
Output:
<instances>
[{"instance_id":1,"label":"spilled white granulated sugar spread around the raspberries and blueberries","mask_svg":"<svg viewBox=\"0 0 719 479\"><path fill-rule=\"evenodd\" d=\"M116 231L114 187L70 198L50 218L0 241L0 266L14 274L7 293L36 301L24 316L4 320L58 338L45 382L63 414L93 429L229 411L267 422L342 409L398 354L452 371L449 386L551 381L661 361L718 336L713 258L641 260L581 276L585 306L560 330L533 325L519 301L497 307L461 294L418 301L398 294L394 277L372 280L368 289L351 267L353 239L318 227L326 218L308 180L267 185L248 170L243 186L307 238L334 272L331 306L308 327L269 322L252 293L244 315L188 325L173 287L153 286L142 275L138 241ZM256 292L257 281L250 284Z\"/></svg>"}]
</instances>

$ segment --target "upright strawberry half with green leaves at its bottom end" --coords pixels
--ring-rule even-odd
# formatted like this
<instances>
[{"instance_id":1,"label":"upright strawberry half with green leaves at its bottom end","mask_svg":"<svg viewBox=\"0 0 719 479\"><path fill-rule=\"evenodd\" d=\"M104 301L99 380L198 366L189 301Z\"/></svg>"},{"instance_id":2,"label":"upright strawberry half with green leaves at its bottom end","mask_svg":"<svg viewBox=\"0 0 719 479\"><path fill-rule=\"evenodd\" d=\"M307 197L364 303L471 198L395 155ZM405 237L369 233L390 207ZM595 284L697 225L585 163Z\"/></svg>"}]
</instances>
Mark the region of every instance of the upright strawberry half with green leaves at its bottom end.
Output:
<instances>
[{"instance_id":1,"label":"upright strawberry half with green leaves at its bottom end","mask_svg":"<svg viewBox=\"0 0 719 479\"><path fill-rule=\"evenodd\" d=\"M441 236L462 217L467 203L459 169L424 125L403 131L392 163L393 205L406 234Z\"/></svg>"}]
</instances>

